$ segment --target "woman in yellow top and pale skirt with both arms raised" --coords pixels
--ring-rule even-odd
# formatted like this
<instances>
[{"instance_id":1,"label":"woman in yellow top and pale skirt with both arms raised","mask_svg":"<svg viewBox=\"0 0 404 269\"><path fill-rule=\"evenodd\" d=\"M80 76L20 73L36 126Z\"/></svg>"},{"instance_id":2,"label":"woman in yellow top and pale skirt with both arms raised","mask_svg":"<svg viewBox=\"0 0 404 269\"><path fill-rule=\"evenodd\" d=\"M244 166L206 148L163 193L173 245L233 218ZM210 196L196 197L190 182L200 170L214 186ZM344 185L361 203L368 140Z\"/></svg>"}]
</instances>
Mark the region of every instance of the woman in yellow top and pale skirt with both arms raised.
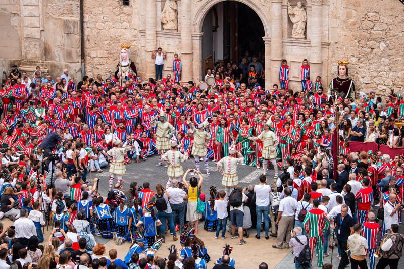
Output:
<instances>
[{"instance_id":1,"label":"woman in yellow top and pale skirt with both arms raised","mask_svg":"<svg viewBox=\"0 0 404 269\"><path fill-rule=\"evenodd\" d=\"M184 183L185 188L188 189L188 203L187 203L187 211L186 211L186 220L189 221L193 229L195 230L195 234L198 233L198 224L200 219L200 213L197 212L198 199L200 195L200 187L204 182L204 178L200 172L194 170L194 172L198 175L199 180L196 177L191 177L189 179L189 183L186 181L186 176L191 170L188 169L184 176L182 177L182 182Z\"/></svg>"}]
</instances>

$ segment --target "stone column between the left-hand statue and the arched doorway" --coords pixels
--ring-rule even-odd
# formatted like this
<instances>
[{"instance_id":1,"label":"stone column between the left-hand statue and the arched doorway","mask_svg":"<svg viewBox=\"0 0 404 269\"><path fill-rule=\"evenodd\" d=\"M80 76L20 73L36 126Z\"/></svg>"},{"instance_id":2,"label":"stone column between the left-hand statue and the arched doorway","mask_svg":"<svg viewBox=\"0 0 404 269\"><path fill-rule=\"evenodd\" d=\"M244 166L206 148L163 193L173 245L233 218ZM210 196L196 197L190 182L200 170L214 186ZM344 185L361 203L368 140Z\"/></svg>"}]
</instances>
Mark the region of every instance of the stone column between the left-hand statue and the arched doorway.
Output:
<instances>
[{"instance_id":1,"label":"stone column between the left-hand statue and the arched doorway","mask_svg":"<svg viewBox=\"0 0 404 269\"><path fill-rule=\"evenodd\" d=\"M191 35L191 0L181 2L181 41L180 52L182 62L181 80L192 80L192 35ZM200 59L198 60L200 62Z\"/></svg>"}]
</instances>

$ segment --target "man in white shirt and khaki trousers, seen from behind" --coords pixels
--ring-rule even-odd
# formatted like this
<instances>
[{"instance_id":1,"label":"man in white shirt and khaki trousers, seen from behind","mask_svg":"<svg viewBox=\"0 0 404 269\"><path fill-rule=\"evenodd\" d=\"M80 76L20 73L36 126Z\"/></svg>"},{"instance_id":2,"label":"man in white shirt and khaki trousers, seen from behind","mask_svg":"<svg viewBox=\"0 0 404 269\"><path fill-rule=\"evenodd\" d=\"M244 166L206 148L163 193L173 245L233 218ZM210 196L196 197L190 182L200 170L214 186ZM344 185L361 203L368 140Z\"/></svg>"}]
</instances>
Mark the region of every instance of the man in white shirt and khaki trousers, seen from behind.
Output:
<instances>
[{"instance_id":1,"label":"man in white shirt and khaki trousers, seen from behind","mask_svg":"<svg viewBox=\"0 0 404 269\"><path fill-rule=\"evenodd\" d=\"M289 248L289 241L291 238L290 231L294 224L294 214L296 211L297 201L290 195L292 191L289 188L284 190L285 198L283 198L279 203L278 218L276 224L278 224L278 236L276 245L273 248L283 248L283 239L286 236L286 249Z\"/></svg>"}]
</instances>

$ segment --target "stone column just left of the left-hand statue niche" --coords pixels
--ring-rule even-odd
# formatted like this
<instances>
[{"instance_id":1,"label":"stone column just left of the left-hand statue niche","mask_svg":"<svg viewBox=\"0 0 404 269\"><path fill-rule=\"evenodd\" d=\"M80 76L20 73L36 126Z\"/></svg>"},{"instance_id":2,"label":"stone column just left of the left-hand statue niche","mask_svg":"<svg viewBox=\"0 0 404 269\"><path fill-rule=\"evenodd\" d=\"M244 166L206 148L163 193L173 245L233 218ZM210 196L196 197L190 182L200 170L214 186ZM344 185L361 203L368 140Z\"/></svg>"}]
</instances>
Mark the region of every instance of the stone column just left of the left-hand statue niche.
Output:
<instances>
[{"instance_id":1,"label":"stone column just left of the left-hand statue niche","mask_svg":"<svg viewBox=\"0 0 404 269\"><path fill-rule=\"evenodd\" d=\"M156 13L156 0L146 1L146 14ZM146 78L155 78L155 60L151 58L151 51L157 49L156 47L156 16L146 16Z\"/></svg>"}]
</instances>

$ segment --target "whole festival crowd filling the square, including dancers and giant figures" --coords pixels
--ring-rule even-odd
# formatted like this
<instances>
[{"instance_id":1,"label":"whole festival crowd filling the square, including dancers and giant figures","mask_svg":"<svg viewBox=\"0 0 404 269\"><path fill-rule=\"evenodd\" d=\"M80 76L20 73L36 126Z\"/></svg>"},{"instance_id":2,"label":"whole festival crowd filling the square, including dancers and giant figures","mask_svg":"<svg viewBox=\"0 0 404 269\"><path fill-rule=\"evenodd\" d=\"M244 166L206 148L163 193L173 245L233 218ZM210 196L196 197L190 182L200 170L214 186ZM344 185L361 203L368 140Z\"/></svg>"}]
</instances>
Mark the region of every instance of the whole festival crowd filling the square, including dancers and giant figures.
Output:
<instances>
[{"instance_id":1,"label":"whole festival crowd filling the square, including dancers and giant figures","mask_svg":"<svg viewBox=\"0 0 404 269\"><path fill-rule=\"evenodd\" d=\"M159 48L153 58L158 79L146 81L131 61L78 83L68 70L53 81L40 67L33 76L12 67L0 89L0 218L14 225L1 229L0 268L207 268L201 220L212 239L228 234L240 245L254 226L257 240L263 232L276 238L273 248L293 248L296 268L310 268L314 253L322 267L337 247L340 268L367 268L368 255L374 269L379 245L376 267L397 268L404 154L351 151L349 143L404 149L401 94L360 92L347 78L347 62L324 89L321 77L311 81L305 59L301 88L291 89L283 60L279 85L264 89L257 58L216 63L207 70L208 87L180 80L178 55L173 77L161 79L165 53ZM184 172L188 159L196 169ZM131 182L125 192L126 166L147 161L167 167L165 186ZM206 175L212 162L223 174L209 194L201 161ZM238 165L263 169L257 185L241 187ZM106 168L109 192L102 197L92 173ZM53 226L48 239L46 223ZM181 249L155 256L168 233ZM129 242L125 259L116 249L107 255L97 236ZM307 245L311 259L304 260ZM224 249L215 269L236 266L232 248Z\"/></svg>"}]
</instances>

